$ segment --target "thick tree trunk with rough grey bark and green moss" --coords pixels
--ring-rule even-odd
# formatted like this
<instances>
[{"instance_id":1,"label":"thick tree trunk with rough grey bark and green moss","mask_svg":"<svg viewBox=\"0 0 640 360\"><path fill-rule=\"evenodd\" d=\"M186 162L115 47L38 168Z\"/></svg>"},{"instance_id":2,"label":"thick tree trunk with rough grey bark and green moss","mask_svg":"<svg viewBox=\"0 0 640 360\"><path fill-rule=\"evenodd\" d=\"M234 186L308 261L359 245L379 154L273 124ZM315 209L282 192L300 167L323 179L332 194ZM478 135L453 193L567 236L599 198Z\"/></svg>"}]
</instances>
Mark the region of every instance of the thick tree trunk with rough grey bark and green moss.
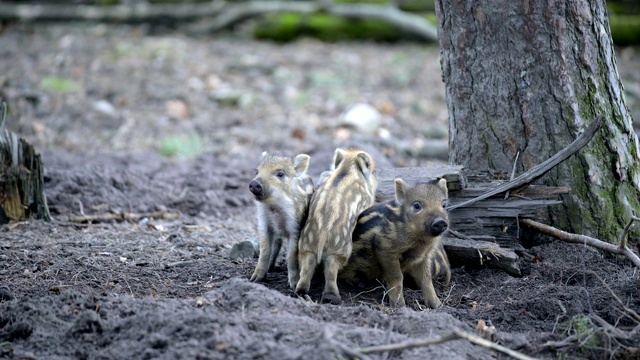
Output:
<instances>
[{"instance_id":1,"label":"thick tree trunk with rough grey bark and green moss","mask_svg":"<svg viewBox=\"0 0 640 360\"><path fill-rule=\"evenodd\" d=\"M596 137L541 181L573 189L552 223L617 241L640 209L640 154L604 0L438 0L436 16L450 163L510 173L519 153L517 174L601 115Z\"/></svg>"}]
</instances>

